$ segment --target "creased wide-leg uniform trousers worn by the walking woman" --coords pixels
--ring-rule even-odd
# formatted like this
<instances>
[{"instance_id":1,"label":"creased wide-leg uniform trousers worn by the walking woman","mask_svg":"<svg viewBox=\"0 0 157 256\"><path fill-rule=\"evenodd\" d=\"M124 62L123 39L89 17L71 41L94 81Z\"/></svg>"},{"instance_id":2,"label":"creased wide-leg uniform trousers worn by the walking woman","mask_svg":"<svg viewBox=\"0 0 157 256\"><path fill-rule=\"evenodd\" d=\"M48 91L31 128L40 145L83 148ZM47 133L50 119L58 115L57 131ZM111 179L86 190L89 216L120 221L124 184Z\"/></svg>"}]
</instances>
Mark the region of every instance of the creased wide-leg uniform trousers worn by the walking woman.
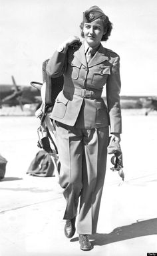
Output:
<instances>
[{"instance_id":1,"label":"creased wide-leg uniform trousers worn by the walking woman","mask_svg":"<svg viewBox=\"0 0 157 256\"><path fill-rule=\"evenodd\" d=\"M106 172L108 127L75 128L57 122L59 183L67 201L63 219L77 217L77 232L96 233ZM79 206L79 210L78 210Z\"/></svg>"}]
</instances>

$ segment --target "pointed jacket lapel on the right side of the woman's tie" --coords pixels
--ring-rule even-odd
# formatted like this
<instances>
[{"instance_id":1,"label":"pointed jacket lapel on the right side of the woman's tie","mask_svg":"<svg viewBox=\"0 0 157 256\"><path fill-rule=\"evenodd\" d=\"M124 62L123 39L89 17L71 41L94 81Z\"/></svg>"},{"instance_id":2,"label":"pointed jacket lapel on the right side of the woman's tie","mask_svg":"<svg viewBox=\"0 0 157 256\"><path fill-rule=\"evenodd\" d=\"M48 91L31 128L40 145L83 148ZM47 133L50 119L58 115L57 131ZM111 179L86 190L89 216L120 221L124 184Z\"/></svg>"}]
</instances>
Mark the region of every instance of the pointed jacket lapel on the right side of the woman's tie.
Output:
<instances>
[{"instance_id":1,"label":"pointed jacket lapel on the right side of the woman's tie","mask_svg":"<svg viewBox=\"0 0 157 256\"><path fill-rule=\"evenodd\" d=\"M95 66L105 60L108 60L108 56L106 56L106 49L104 49L101 44L98 48L98 51L96 51L95 55L92 57L92 59L90 59L88 67L90 68L92 66Z\"/></svg>"}]
</instances>

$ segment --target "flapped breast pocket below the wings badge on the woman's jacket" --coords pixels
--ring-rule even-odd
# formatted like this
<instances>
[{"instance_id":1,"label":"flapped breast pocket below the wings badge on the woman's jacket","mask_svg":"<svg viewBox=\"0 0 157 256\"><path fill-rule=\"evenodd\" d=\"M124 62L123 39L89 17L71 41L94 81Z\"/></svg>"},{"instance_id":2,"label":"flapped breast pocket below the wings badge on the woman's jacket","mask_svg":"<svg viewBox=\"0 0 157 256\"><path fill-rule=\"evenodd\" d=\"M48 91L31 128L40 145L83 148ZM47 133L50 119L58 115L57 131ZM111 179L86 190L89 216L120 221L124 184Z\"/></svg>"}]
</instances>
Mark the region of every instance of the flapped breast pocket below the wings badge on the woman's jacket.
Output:
<instances>
[{"instance_id":1,"label":"flapped breast pocket below the wings badge on the woman's jacket","mask_svg":"<svg viewBox=\"0 0 157 256\"><path fill-rule=\"evenodd\" d=\"M106 84L106 80L110 75L110 67L100 67L96 70L92 76L92 85L98 84L99 86L104 86Z\"/></svg>"}]
</instances>

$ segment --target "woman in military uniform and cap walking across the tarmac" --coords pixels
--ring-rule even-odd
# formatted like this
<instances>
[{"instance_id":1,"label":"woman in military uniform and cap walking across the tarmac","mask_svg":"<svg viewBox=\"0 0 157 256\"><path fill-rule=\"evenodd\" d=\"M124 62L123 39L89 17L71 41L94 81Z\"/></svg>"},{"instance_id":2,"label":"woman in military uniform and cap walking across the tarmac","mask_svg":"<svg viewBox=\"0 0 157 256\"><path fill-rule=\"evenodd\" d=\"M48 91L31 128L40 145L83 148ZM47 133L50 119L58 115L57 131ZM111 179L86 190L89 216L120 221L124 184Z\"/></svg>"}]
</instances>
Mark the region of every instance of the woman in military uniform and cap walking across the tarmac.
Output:
<instances>
[{"instance_id":1,"label":"woman in military uniform and cap walking across the tarmac","mask_svg":"<svg viewBox=\"0 0 157 256\"><path fill-rule=\"evenodd\" d=\"M51 118L56 122L60 184L67 201L65 235L73 237L77 217L80 249L87 251L92 249L88 235L96 233L109 132L111 141L120 141L120 73L119 56L100 43L112 30L104 12L90 7L80 29L84 40L69 37L49 60L47 73L53 78L64 75ZM104 86L107 107L101 98Z\"/></svg>"}]
</instances>

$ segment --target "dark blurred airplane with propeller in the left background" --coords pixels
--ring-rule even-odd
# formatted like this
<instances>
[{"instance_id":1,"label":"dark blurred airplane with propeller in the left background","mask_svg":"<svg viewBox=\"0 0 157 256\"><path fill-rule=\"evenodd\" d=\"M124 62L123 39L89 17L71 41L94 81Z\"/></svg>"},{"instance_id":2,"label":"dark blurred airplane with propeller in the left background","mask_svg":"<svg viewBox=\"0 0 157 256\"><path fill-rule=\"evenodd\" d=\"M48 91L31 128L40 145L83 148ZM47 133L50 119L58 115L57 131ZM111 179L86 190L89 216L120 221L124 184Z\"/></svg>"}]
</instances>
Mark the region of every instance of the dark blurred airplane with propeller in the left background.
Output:
<instances>
[{"instance_id":1,"label":"dark blurred airplane with propeller in the left background","mask_svg":"<svg viewBox=\"0 0 157 256\"><path fill-rule=\"evenodd\" d=\"M32 86L19 86L11 76L13 84L0 84L0 108L2 106L20 106L23 110L25 104L41 105L41 92ZM42 85L41 83L39 83Z\"/></svg>"}]
</instances>

